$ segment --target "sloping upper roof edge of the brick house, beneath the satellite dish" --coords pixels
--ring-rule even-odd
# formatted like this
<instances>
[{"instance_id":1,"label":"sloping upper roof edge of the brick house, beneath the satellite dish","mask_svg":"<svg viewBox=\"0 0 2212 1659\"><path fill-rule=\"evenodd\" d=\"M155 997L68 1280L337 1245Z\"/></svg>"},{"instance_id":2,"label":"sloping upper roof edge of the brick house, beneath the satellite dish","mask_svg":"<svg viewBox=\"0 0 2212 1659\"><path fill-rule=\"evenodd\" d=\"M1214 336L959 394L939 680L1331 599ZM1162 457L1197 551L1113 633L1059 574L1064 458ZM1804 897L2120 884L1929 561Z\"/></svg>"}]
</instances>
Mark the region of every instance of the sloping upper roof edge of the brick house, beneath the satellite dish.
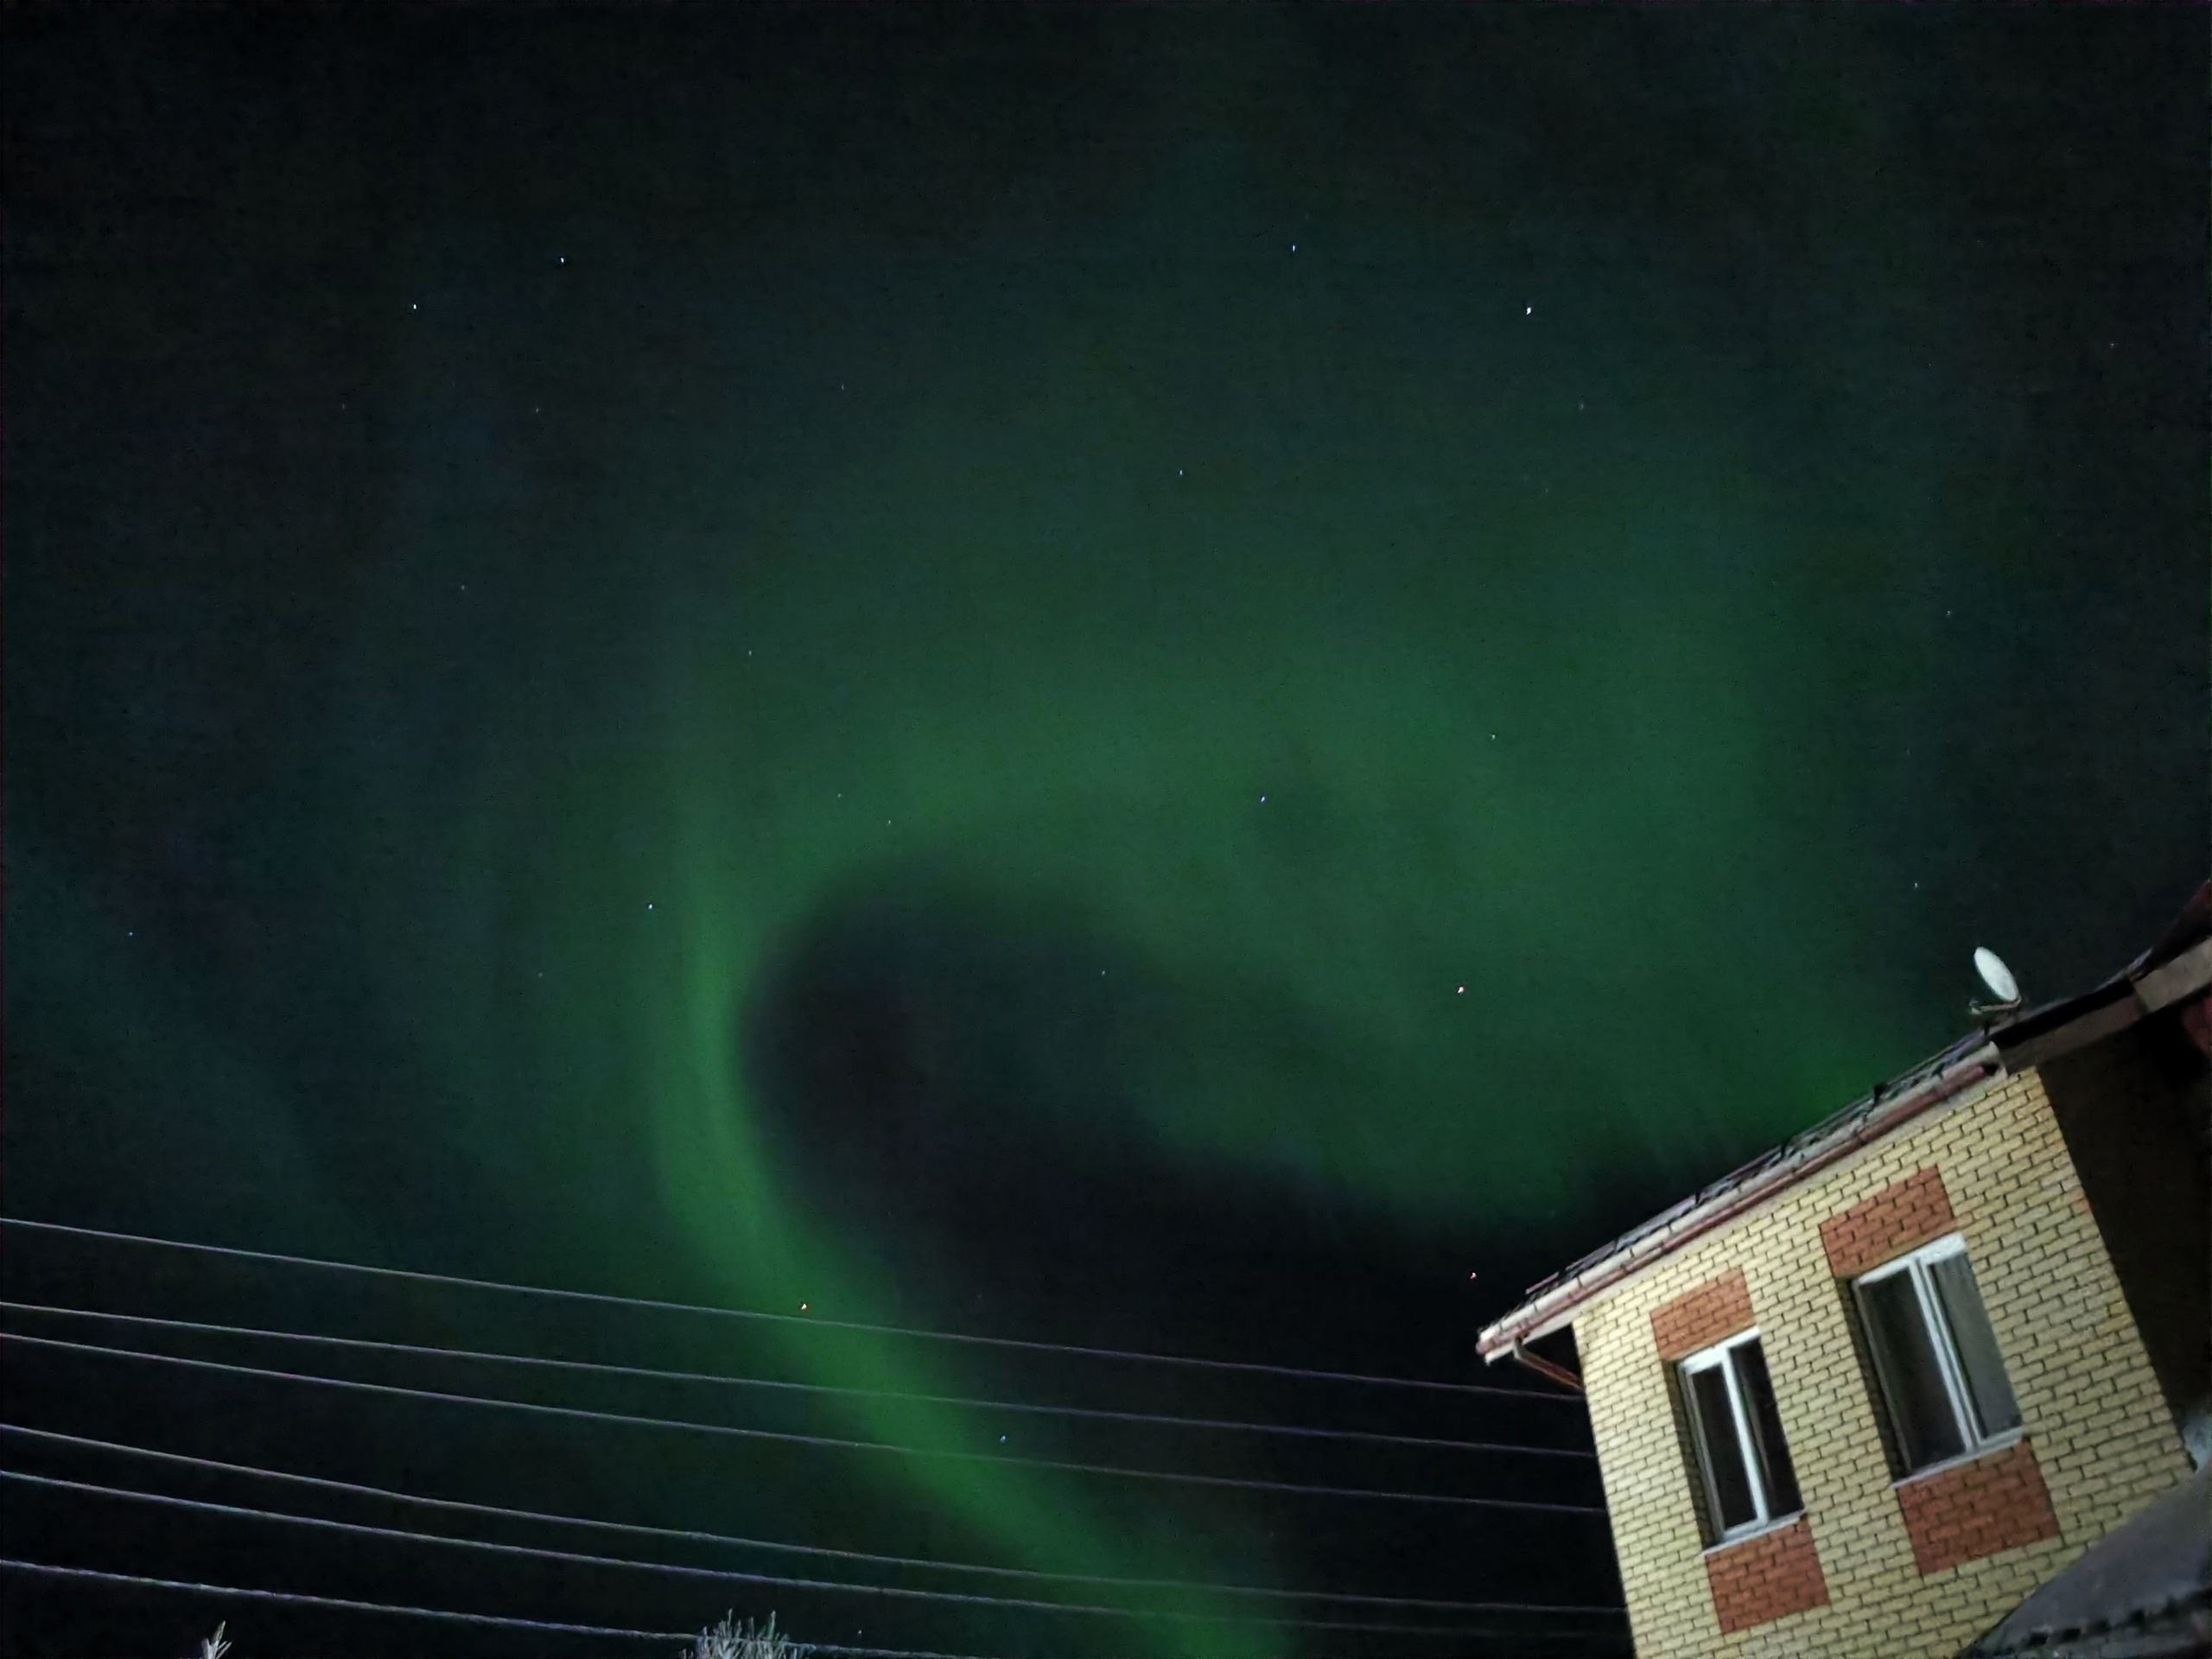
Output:
<instances>
[{"instance_id":1,"label":"sloping upper roof edge of the brick house, beneath the satellite dish","mask_svg":"<svg viewBox=\"0 0 2212 1659\"><path fill-rule=\"evenodd\" d=\"M2020 1071L2110 1035L2208 984L2212 984L2212 883L2190 896L2148 951L2104 984L2024 1013L1997 1013L1980 1031L1891 1077L1865 1099L1823 1117L1582 1261L1540 1279L1520 1307L1482 1332L1475 1349L1495 1365L1520 1343L1571 1323L1575 1310L1601 1290L1644 1272L1661 1256L1849 1157L1867 1141L1902 1128L1944 1099L2002 1071Z\"/></svg>"}]
</instances>

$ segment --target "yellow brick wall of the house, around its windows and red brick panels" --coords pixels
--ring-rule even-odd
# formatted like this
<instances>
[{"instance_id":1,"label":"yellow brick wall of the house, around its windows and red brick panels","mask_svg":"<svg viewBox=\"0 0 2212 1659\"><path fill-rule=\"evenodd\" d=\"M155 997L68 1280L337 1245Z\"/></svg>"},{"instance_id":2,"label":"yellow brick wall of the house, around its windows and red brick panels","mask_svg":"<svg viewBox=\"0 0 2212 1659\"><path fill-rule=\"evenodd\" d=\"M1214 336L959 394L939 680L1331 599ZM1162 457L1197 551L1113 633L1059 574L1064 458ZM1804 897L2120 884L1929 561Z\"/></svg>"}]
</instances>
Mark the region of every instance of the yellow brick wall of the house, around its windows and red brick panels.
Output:
<instances>
[{"instance_id":1,"label":"yellow brick wall of the house, around its windows and red brick panels","mask_svg":"<svg viewBox=\"0 0 2212 1659\"><path fill-rule=\"evenodd\" d=\"M1920 1577L1820 1221L1942 1172L2059 1535ZM1829 1604L1721 1635L1650 1314L1730 1267L1752 1294ZM2042 1082L1995 1077L1666 1256L1575 1318L1639 1659L1949 1659L2190 1464Z\"/></svg>"}]
</instances>

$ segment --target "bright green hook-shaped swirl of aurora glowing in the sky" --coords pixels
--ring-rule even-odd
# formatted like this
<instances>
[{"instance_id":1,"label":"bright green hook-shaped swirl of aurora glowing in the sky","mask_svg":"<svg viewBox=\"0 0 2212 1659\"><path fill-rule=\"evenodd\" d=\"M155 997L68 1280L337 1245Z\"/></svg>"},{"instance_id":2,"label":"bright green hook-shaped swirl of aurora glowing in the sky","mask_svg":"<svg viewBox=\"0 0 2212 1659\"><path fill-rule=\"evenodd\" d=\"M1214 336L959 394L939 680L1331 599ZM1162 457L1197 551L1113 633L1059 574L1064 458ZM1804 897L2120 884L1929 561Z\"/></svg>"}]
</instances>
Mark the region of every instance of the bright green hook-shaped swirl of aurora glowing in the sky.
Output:
<instances>
[{"instance_id":1,"label":"bright green hook-shaped swirl of aurora glowing in the sky","mask_svg":"<svg viewBox=\"0 0 2212 1659\"><path fill-rule=\"evenodd\" d=\"M783 1199L732 1020L854 889L1079 929L1099 1006L1064 1018L1148 1141L1418 1219L1577 1206L1588 1148L1692 1181L1905 1053L1823 949L1878 918L1823 914L1776 845L1818 737L1761 688L1823 566L1924 615L1885 551L1924 531L1836 524L1732 436L1754 414L1657 389L1717 365L1444 263L1442 292L1314 257L1314 288L1252 270L1210 316L1137 294L1002 321L984 367L768 500L717 500L737 438L710 425L639 460L637 498L684 504L622 513L604 551L644 593L557 591L522 644L604 677L487 688L456 796L372 790L356 818L436 849L363 914L403 922L378 978L420 998L451 1157L588 1208L641 1152L732 1305L880 1314L907 1245ZM1294 363L1290 336L1356 345ZM1031 1110L1079 1110L1029 1042ZM821 1374L956 1391L876 1347ZM914 1405L856 1416L987 1449ZM1066 1482L911 1478L1031 1566L1188 1548L1088 1524Z\"/></svg>"}]
</instances>

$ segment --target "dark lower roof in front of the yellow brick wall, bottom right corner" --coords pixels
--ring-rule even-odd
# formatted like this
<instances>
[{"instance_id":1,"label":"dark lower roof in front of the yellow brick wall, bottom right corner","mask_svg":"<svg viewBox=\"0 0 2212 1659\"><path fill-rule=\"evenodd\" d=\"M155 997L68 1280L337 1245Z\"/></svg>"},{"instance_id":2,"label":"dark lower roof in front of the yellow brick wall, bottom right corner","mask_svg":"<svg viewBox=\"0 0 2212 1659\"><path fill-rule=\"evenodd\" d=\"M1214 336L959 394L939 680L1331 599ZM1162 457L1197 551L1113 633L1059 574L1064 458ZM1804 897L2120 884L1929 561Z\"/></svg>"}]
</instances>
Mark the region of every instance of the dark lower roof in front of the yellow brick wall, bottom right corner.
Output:
<instances>
[{"instance_id":1,"label":"dark lower roof in front of the yellow brick wall, bottom right corner","mask_svg":"<svg viewBox=\"0 0 2212 1659\"><path fill-rule=\"evenodd\" d=\"M2212 1464L2099 1537L1960 1659L2212 1650Z\"/></svg>"}]
</instances>

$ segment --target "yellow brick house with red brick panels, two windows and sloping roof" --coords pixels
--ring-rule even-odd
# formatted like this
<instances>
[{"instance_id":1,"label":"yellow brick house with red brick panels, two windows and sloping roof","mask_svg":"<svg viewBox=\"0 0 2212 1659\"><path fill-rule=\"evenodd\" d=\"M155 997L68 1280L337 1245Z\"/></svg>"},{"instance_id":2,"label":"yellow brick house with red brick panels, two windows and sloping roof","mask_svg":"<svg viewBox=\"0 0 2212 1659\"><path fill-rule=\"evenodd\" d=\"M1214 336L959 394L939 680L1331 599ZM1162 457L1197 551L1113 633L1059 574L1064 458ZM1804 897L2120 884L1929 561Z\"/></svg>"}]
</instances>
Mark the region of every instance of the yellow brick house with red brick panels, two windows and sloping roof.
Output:
<instances>
[{"instance_id":1,"label":"yellow brick house with red brick panels, two windows and sloping roof","mask_svg":"<svg viewBox=\"0 0 2212 1659\"><path fill-rule=\"evenodd\" d=\"M2208 987L2212 887L1482 1332L1588 1398L1639 1659L1949 1659L2205 1462Z\"/></svg>"}]
</instances>

